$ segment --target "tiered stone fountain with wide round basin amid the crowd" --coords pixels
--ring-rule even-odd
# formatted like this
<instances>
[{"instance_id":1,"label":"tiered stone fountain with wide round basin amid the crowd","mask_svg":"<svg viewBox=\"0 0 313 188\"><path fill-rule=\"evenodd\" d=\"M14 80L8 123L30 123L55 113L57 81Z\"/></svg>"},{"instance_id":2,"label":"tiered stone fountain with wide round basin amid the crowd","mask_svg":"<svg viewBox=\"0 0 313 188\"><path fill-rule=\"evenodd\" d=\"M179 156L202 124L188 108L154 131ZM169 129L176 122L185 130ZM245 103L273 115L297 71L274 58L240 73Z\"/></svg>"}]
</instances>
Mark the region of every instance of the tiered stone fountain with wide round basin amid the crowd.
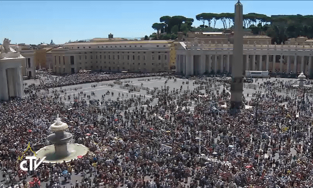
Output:
<instances>
[{"instance_id":1,"label":"tiered stone fountain with wide round basin amid the crowd","mask_svg":"<svg viewBox=\"0 0 313 188\"><path fill-rule=\"evenodd\" d=\"M87 154L88 148L82 144L68 143L72 139L72 134L65 132L68 128L65 122L57 116L56 122L51 124L50 130L53 134L48 136L48 140L53 145L48 145L36 152L37 159L43 159L44 163L62 163L77 159L78 156Z\"/></svg>"}]
</instances>

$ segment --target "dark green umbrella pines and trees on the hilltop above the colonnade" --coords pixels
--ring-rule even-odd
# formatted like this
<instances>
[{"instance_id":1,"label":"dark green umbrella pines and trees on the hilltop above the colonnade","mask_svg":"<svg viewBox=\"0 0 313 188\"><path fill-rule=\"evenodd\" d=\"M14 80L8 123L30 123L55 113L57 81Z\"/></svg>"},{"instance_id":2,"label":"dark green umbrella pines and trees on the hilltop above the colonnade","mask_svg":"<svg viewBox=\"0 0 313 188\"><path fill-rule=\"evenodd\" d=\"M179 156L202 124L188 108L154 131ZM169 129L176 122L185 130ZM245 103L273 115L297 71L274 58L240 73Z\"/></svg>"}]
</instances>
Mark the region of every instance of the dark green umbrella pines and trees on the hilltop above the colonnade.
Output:
<instances>
[{"instance_id":1,"label":"dark green umbrella pines and trees on the hilltop above the colonnade","mask_svg":"<svg viewBox=\"0 0 313 188\"><path fill-rule=\"evenodd\" d=\"M259 13L243 15L244 27L250 28L254 34L263 34L272 38L272 43L280 44L288 38L304 36L313 38L313 15L275 15L266 16ZM216 30L216 23L223 24L222 29L232 28L234 25L234 13L201 13L195 16L196 20L202 21L201 28ZM178 32L186 34L195 29L192 26L194 19L184 16L162 16L160 23L154 23L152 28L158 39L173 39ZM162 34L162 35L160 35Z\"/></svg>"}]
</instances>

